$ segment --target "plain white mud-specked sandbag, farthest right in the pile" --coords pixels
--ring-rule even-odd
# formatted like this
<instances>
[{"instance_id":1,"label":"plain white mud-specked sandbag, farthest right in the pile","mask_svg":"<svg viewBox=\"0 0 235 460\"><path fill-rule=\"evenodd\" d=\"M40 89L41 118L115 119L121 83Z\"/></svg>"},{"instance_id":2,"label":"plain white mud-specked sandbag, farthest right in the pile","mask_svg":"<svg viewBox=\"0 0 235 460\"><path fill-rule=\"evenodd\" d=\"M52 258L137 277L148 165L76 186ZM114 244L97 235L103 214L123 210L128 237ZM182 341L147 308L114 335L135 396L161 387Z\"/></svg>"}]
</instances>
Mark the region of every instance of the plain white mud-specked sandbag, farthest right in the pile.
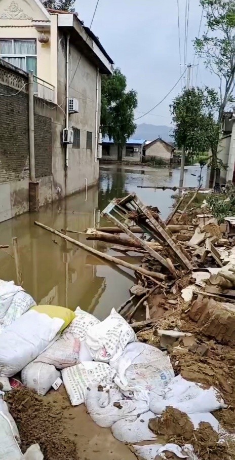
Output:
<instances>
[{"instance_id":1,"label":"plain white mud-specked sandbag, farthest right in the pile","mask_svg":"<svg viewBox=\"0 0 235 460\"><path fill-rule=\"evenodd\" d=\"M181 375L174 378L162 395L158 389L150 391L149 408L152 412L162 414L167 406L187 414L212 412L227 407L218 390L213 387L204 389L202 385L189 382Z\"/></svg>"}]
</instances>

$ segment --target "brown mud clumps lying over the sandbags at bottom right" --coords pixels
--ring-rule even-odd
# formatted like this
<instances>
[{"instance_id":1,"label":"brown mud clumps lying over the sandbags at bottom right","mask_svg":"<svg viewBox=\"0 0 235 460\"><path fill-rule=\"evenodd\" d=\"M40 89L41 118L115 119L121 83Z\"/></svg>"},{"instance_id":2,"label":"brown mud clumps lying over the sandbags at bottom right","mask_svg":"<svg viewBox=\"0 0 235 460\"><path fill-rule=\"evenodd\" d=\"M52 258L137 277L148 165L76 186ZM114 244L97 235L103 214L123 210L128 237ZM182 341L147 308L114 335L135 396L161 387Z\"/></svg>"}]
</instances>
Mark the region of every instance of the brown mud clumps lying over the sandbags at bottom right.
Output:
<instances>
[{"instance_id":1,"label":"brown mud clumps lying over the sandbags at bottom right","mask_svg":"<svg viewBox=\"0 0 235 460\"><path fill-rule=\"evenodd\" d=\"M219 435L205 422L194 430L188 415L172 407L168 407L161 418L150 420L149 429L164 436L168 443L181 447L191 444L201 460L235 459L234 443L221 443Z\"/></svg>"}]
</instances>

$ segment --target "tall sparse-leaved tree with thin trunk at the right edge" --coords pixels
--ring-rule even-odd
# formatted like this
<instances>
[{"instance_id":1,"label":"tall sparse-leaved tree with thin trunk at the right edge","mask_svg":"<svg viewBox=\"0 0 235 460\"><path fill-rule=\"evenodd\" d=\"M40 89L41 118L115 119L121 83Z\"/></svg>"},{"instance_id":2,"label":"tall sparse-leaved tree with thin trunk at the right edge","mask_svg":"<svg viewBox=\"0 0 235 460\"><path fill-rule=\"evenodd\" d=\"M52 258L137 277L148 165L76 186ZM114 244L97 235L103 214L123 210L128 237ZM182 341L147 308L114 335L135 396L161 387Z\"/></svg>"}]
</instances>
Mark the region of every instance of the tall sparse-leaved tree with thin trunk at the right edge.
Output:
<instances>
[{"instance_id":1,"label":"tall sparse-leaved tree with thin trunk at the right edge","mask_svg":"<svg viewBox=\"0 0 235 460\"><path fill-rule=\"evenodd\" d=\"M234 101L235 76L235 3L234 0L200 0L206 18L206 33L194 41L195 51L204 58L206 67L219 78L218 125L228 103ZM210 186L219 182L221 163L218 159L219 131L211 159Z\"/></svg>"}]
</instances>

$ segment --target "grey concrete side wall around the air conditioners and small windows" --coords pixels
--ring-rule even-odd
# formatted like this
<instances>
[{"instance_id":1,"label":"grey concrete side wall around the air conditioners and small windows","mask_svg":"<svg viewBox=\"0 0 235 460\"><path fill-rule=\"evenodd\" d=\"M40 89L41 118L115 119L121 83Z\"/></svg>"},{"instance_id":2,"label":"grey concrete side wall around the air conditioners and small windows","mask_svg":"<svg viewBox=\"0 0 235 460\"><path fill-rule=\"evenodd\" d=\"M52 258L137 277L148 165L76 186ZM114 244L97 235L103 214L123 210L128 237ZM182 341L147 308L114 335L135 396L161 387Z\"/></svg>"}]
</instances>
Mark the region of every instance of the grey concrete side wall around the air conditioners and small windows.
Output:
<instances>
[{"instance_id":1,"label":"grey concrete side wall around the air conditioners and small windows","mask_svg":"<svg viewBox=\"0 0 235 460\"><path fill-rule=\"evenodd\" d=\"M62 103L65 109L65 39L58 35L58 104ZM70 42L69 59L69 97L79 100L79 113L69 115L69 126L80 130L80 148L69 145L68 170L67 170L67 194L72 194L88 185L98 182L99 161L95 162L95 112L96 112L96 81L97 69L89 60L79 53L77 48ZM81 60L80 60L81 58ZM77 66L79 62L79 66ZM75 75L74 75L75 72ZM74 75L74 78L73 78ZM63 103L64 101L64 103ZM100 125L100 101L101 101L101 76L99 77L99 103L98 103L98 131ZM87 131L92 132L92 149L87 149ZM62 181L61 165L54 162L54 177L58 182Z\"/></svg>"}]
</instances>

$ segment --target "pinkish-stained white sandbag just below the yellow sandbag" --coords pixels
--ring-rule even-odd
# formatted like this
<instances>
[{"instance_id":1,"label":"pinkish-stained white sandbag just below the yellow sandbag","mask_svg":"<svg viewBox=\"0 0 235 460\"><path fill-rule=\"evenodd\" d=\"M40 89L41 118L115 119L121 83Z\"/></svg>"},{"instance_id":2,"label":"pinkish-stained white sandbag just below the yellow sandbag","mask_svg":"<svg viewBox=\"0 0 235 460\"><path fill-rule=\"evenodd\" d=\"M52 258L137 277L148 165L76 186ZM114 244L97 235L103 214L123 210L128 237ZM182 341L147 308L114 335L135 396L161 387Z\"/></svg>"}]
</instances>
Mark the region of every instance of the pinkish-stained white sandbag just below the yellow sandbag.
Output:
<instances>
[{"instance_id":1,"label":"pinkish-stained white sandbag just below the yellow sandbag","mask_svg":"<svg viewBox=\"0 0 235 460\"><path fill-rule=\"evenodd\" d=\"M58 369L63 369L80 362L79 351L80 339L63 332L47 350L37 356L35 361L53 364Z\"/></svg>"}]
</instances>

